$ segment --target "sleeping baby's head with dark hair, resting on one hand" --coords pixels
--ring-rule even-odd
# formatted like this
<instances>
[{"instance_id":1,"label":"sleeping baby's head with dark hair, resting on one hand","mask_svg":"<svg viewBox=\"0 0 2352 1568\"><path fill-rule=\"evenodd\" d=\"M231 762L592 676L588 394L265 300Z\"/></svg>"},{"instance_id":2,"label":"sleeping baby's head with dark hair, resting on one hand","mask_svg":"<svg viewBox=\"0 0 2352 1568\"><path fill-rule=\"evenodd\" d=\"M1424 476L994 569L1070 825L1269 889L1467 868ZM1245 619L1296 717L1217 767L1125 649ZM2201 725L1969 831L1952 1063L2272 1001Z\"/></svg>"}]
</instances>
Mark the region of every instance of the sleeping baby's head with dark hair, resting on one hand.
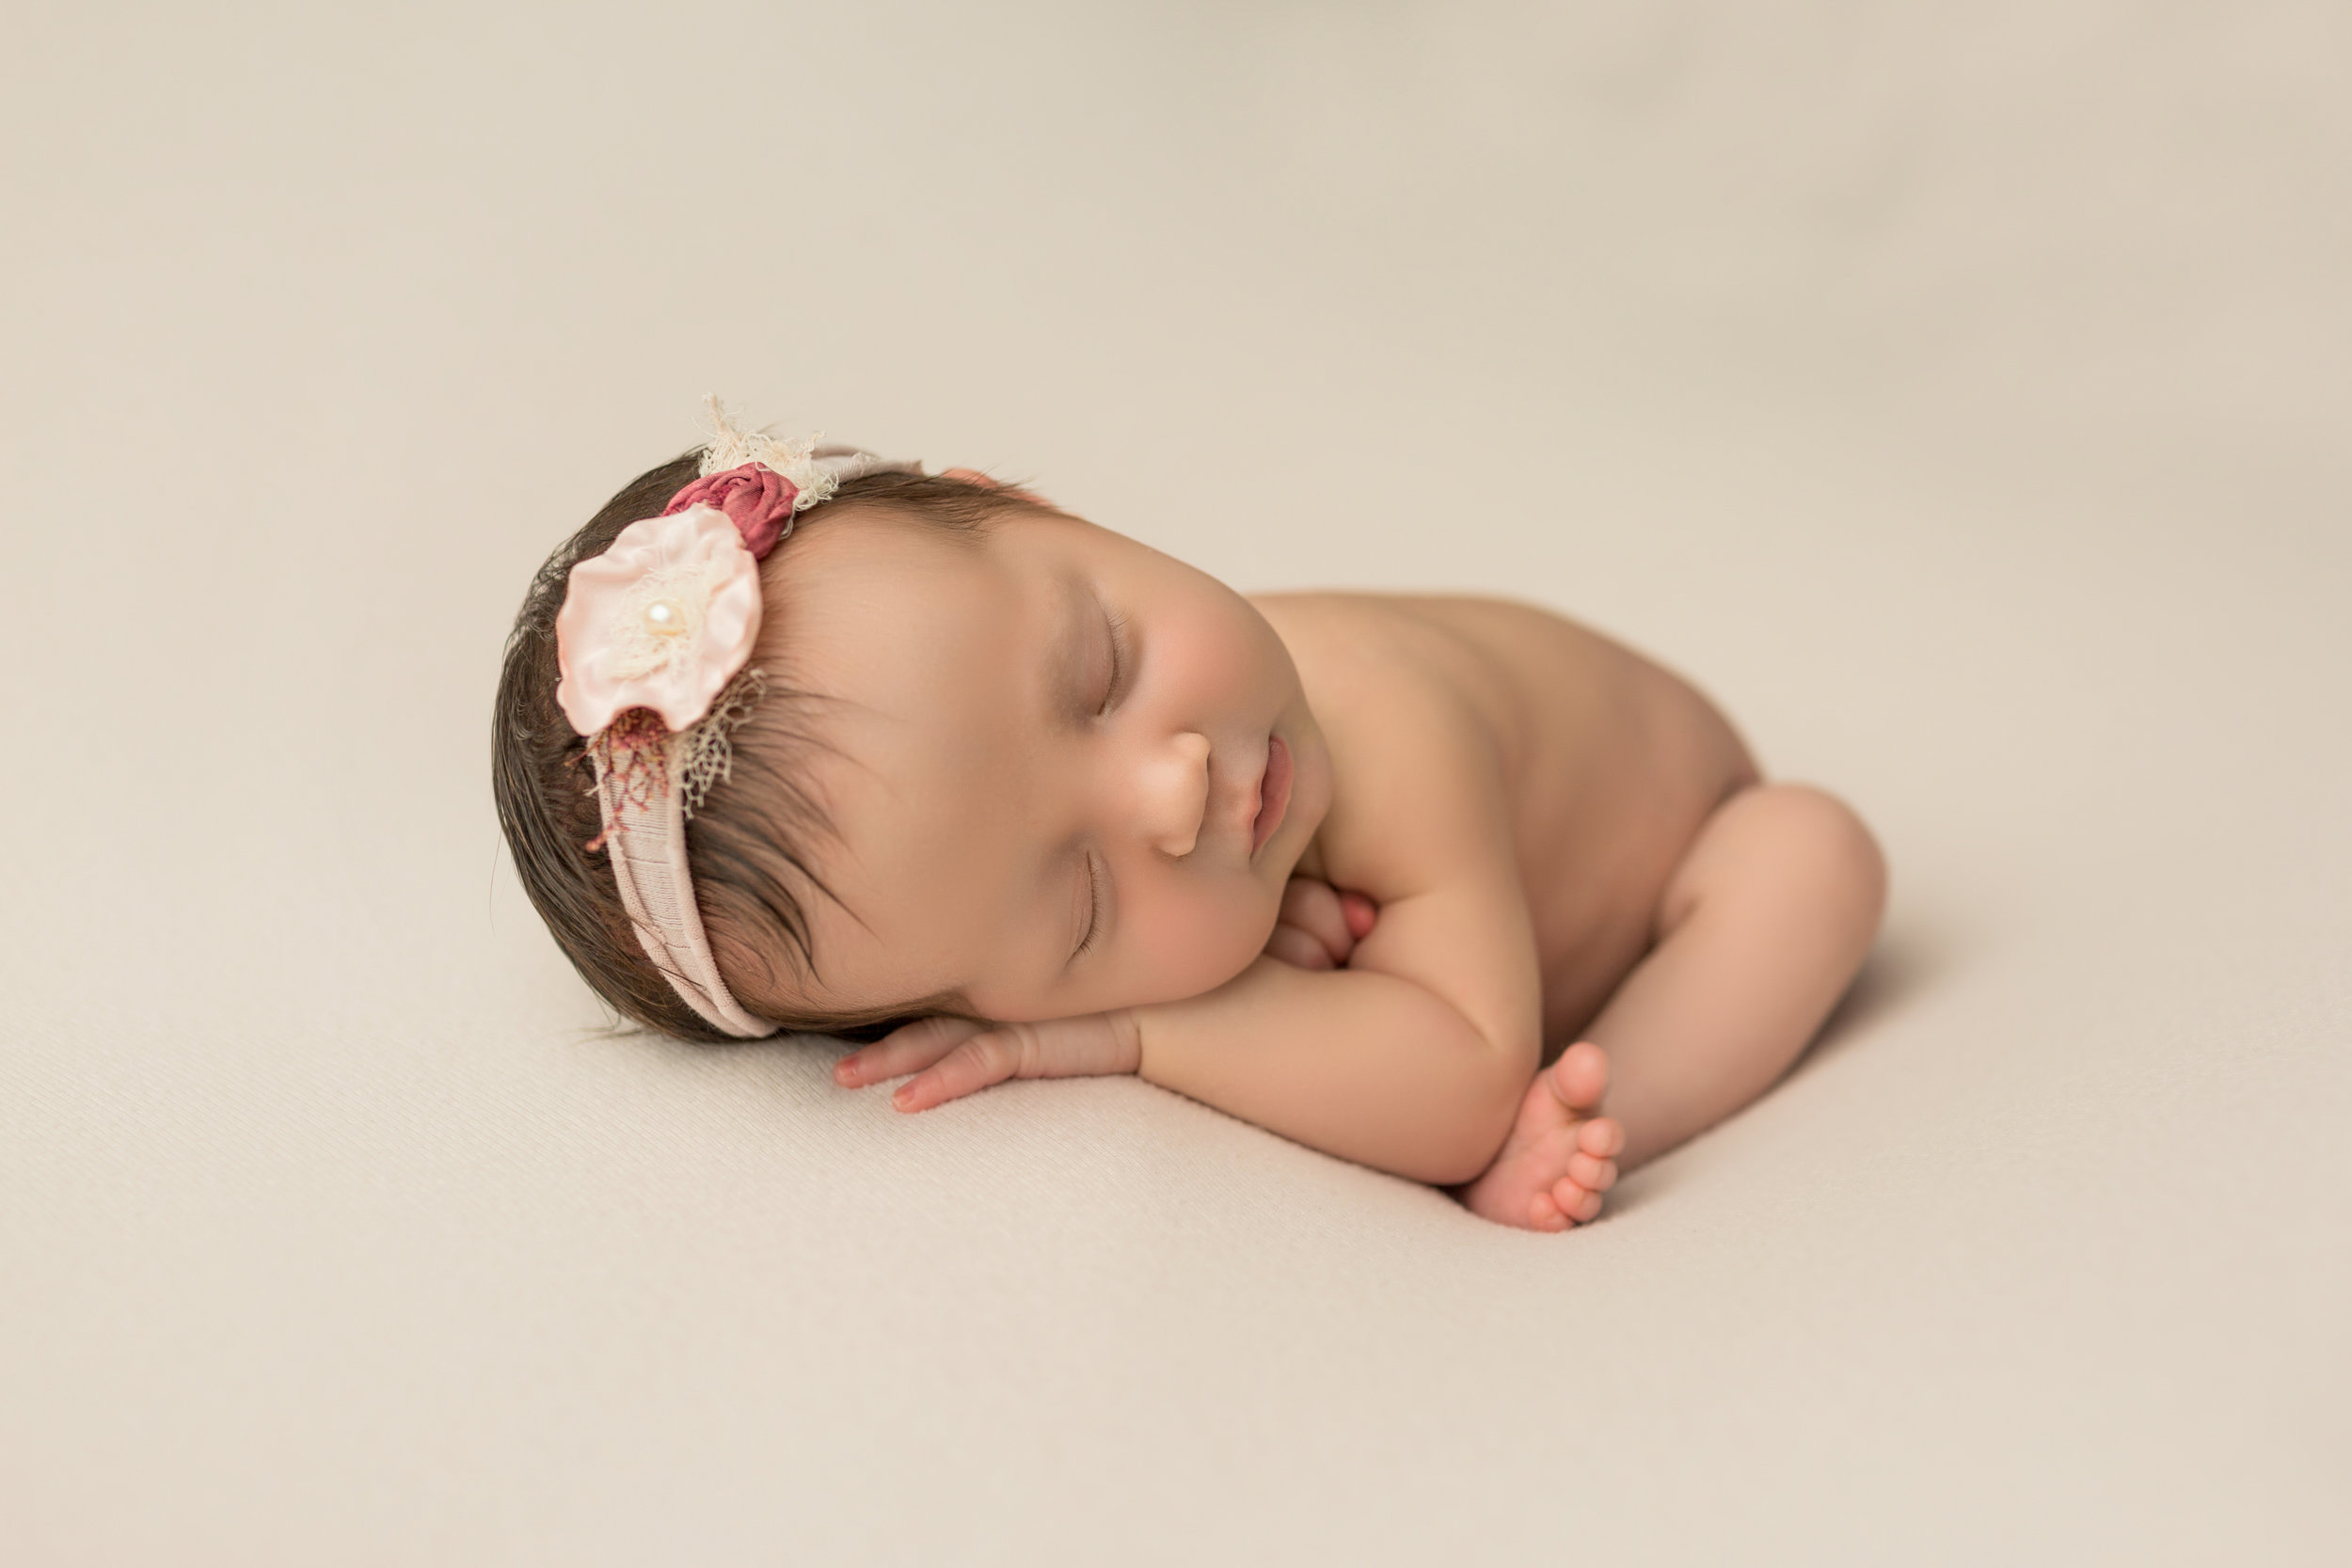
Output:
<instances>
[{"instance_id":1,"label":"sleeping baby's head with dark hair, resting on one hand","mask_svg":"<svg viewBox=\"0 0 2352 1568\"><path fill-rule=\"evenodd\" d=\"M786 510L790 536L755 576L731 557L757 588L757 632L736 670L710 672L715 698L670 712L675 736L649 708L602 729L579 672L560 703L572 569L659 517L703 465L687 454L637 477L548 559L499 682L499 818L532 903L597 994L689 1039L757 1032L713 1023L708 997L687 1004L694 985L663 971L694 961L649 957L677 950L647 865L661 867L663 792L691 804L706 783L684 752L724 776L682 839L673 820L677 886L755 1023L1063 1018L1195 997L1249 966L1329 806L1289 651L1223 583L1025 491L851 465L830 501ZM696 517L720 555L734 550L708 515L668 522ZM588 590L574 592L564 658L579 665ZM722 609L689 607L696 635ZM593 738L574 729L581 712ZM666 745L670 764L630 778L630 738ZM637 919L616 849L637 867ZM642 940L647 922L673 945Z\"/></svg>"}]
</instances>

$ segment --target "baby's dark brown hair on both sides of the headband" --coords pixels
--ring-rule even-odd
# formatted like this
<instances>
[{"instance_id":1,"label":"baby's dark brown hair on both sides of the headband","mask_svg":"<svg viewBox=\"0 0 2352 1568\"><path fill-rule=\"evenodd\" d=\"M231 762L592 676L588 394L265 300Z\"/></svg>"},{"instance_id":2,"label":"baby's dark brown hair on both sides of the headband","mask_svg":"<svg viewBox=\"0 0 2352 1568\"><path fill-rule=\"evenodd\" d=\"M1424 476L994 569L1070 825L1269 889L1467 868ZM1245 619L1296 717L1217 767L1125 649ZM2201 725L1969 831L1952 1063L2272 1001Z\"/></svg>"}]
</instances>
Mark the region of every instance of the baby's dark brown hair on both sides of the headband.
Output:
<instances>
[{"instance_id":1,"label":"baby's dark brown hair on both sides of the headband","mask_svg":"<svg viewBox=\"0 0 2352 1568\"><path fill-rule=\"evenodd\" d=\"M522 889L590 990L649 1030L724 1041L729 1037L703 1023L654 969L621 907L612 860L602 849L588 849L602 832L595 778L586 741L572 733L555 705L555 611L562 609L572 567L602 555L640 517L656 517L670 496L694 482L699 458L689 451L623 484L532 578L499 670L492 790ZM877 473L842 484L826 515L875 508L978 534L990 520L1035 505L1042 503L1025 491L978 480ZM807 783L811 757L826 750L818 724L823 703L821 693L769 679L757 708L734 731L729 780L687 823L687 858L720 973L746 1009L786 1030L870 1034L901 1018L941 1011L950 999L908 997L858 1013L809 1013L779 1001L788 978L816 976L807 898L833 896L811 856L830 823Z\"/></svg>"}]
</instances>

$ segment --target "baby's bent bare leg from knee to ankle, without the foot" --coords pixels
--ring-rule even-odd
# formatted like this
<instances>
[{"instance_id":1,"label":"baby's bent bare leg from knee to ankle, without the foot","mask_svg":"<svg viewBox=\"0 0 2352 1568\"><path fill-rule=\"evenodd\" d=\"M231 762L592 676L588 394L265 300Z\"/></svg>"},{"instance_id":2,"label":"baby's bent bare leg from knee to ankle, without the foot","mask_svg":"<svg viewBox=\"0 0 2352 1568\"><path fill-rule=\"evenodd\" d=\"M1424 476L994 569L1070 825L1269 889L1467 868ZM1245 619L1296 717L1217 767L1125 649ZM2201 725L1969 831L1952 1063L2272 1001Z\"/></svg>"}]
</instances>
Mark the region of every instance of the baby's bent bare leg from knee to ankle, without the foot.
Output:
<instances>
[{"instance_id":1,"label":"baby's bent bare leg from knee to ankle, without the foot","mask_svg":"<svg viewBox=\"0 0 2352 1568\"><path fill-rule=\"evenodd\" d=\"M1658 900L1656 945L1585 1039L1609 1053L1609 1114L1632 1168L1778 1079L1870 952L1886 863L1860 818L1804 785L1740 790Z\"/></svg>"}]
</instances>

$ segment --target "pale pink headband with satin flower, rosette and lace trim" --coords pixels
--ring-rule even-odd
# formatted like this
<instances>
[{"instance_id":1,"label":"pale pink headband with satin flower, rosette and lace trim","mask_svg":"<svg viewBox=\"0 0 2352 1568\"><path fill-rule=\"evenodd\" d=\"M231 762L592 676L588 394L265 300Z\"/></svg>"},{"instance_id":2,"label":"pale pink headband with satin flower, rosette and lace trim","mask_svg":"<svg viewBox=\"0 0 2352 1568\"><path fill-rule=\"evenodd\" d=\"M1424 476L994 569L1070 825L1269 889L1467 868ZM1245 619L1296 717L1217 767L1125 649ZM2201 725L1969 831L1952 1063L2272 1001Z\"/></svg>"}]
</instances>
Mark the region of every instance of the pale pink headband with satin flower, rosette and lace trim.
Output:
<instances>
[{"instance_id":1,"label":"pale pink headband with satin flower, rosette and lace trim","mask_svg":"<svg viewBox=\"0 0 2352 1568\"><path fill-rule=\"evenodd\" d=\"M572 567L555 614L555 703L588 738L612 877L637 943L710 1027L774 1034L720 978L687 870L687 820L727 778L727 736L760 701L746 670L760 635L760 562L800 512L870 473L922 473L818 437L743 433L710 402L701 477L661 517L621 529Z\"/></svg>"}]
</instances>

